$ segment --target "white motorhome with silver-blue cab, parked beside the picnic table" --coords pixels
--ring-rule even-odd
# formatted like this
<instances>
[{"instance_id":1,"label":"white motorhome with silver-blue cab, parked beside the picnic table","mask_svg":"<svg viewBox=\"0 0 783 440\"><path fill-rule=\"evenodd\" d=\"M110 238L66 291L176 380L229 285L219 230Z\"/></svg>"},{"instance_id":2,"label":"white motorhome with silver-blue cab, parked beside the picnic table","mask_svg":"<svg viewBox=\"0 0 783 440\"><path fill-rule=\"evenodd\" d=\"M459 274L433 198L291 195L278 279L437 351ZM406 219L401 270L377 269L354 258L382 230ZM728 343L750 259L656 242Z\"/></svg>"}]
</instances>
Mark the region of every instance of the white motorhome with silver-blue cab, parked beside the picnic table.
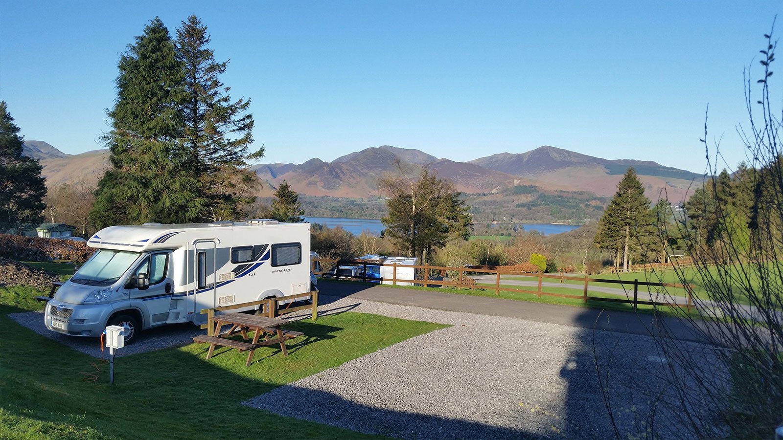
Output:
<instances>
[{"instance_id":1,"label":"white motorhome with silver-blue cab, parked beside the picnic table","mask_svg":"<svg viewBox=\"0 0 783 440\"><path fill-rule=\"evenodd\" d=\"M118 325L129 342L154 326L206 323L204 308L316 290L308 223L110 226L87 244L98 251L46 304L49 330L98 337Z\"/></svg>"}]
</instances>

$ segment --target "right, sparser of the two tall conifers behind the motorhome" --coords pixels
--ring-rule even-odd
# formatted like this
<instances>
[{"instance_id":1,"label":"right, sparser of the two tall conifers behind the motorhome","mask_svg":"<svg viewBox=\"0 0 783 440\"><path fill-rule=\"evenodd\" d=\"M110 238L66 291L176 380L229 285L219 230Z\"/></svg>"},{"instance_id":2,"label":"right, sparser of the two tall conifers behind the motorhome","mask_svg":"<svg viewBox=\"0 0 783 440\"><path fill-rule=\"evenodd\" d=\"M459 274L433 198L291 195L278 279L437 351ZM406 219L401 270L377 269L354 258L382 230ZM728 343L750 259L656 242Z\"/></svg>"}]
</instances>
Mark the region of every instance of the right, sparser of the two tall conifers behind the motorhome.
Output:
<instances>
[{"instance_id":1,"label":"right, sparser of the two tall conifers behind the motorhome","mask_svg":"<svg viewBox=\"0 0 783 440\"><path fill-rule=\"evenodd\" d=\"M209 42L207 27L197 16L189 16L177 29L175 45L185 70L187 99L182 112L190 167L199 179L200 196L207 200L204 214L218 220L239 217L241 207L254 202L255 197L242 197L236 185L254 177L247 160L262 157L264 149L248 153L254 124L247 113L250 99L232 102L229 87L220 81L229 62L215 61Z\"/></svg>"}]
</instances>

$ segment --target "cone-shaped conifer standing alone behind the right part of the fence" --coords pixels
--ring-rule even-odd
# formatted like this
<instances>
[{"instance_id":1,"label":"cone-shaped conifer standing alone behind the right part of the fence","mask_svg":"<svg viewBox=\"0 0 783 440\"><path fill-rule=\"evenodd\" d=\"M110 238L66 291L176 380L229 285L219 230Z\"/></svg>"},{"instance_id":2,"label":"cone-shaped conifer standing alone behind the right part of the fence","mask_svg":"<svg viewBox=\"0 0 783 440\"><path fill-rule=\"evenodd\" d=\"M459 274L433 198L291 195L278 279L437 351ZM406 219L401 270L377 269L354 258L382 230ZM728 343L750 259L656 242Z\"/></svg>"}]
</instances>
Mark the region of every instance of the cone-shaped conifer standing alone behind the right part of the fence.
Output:
<instances>
[{"instance_id":1,"label":"cone-shaped conifer standing alone behind the right part of the fence","mask_svg":"<svg viewBox=\"0 0 783 440\"><path fill-rule=\"evenodd\" d=\"M598 223L595 243L600 247L610 245L617 252L615 265L622 254L622 271L628 272L629 261L634 257L647 258L651 244L655 243L655 225L651 215L650 200L644 196L644 187L633 168L617 185L617 192Z\"/></svg>"}]
</instances>

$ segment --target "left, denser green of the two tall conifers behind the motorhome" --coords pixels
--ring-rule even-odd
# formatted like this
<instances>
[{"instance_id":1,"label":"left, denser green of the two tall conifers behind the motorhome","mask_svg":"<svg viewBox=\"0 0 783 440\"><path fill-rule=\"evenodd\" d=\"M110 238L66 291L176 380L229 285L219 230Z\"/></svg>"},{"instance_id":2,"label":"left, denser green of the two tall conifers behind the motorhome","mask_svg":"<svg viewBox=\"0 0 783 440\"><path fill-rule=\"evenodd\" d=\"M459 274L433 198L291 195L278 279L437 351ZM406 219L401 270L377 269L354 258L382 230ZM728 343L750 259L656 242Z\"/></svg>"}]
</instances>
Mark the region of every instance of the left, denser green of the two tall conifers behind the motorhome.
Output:
<instances>
[{"instance_id":1,"label":"left, denser green of the two tall conifers behind the motorhome","mask_svg":"<svg viewBox=\"0 0 783 440\"><path fill-rule=\"evenodd\" d=\"M160 18L144 27L118 64L117 103L105 136L110 164L91 211L98 227L193 222L206 204L189 169L182 106L185 74Z\"/></svg>"}]
</instances>

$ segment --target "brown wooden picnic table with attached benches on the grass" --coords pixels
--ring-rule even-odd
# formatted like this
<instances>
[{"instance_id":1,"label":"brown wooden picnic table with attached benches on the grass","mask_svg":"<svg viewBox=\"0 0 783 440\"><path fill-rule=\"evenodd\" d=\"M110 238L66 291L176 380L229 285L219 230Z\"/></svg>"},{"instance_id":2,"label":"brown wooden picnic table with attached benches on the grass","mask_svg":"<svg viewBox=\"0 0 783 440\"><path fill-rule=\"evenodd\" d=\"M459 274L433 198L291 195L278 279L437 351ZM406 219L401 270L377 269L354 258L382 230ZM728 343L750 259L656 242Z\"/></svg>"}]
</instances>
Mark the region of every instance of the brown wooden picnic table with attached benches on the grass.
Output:
<instances>
[{"instance_id":1,"label":"brown wooden picnic table with attached benches on the grass","mask_svg":"<svg viewBox=\"0 0 783 440\"><path fill-rule=\"evenodd\" d=\"M214 325L215 330L212 334L215 336L200 334L197 337L193 337L193 341L210 344L209 352L207 352L207 359L211 358L212 352L215 350L215 345L236 348L240 352L247 351L247 362L245 363L245 366L250 366L250 363L253 360L253 353L255 352L255 349L259 347L280 344L280 350L283 351L283 355L288 355L286 341L293 337L301 336L302 333L281 329L280 326L284 323L286 322L282 319L268 318L266 316L248 315L247 313L225 313L212 316L210 322L207 323L207 326ZM226 325L230 325L231 329L227 333L221 334L220 330ZM252 342L231 339L232 336L241 334L244 340L247 341L247 334L251 332L255 332ZM264 340L258 341L262 335Z\"/></svg>"}]
</instances>

